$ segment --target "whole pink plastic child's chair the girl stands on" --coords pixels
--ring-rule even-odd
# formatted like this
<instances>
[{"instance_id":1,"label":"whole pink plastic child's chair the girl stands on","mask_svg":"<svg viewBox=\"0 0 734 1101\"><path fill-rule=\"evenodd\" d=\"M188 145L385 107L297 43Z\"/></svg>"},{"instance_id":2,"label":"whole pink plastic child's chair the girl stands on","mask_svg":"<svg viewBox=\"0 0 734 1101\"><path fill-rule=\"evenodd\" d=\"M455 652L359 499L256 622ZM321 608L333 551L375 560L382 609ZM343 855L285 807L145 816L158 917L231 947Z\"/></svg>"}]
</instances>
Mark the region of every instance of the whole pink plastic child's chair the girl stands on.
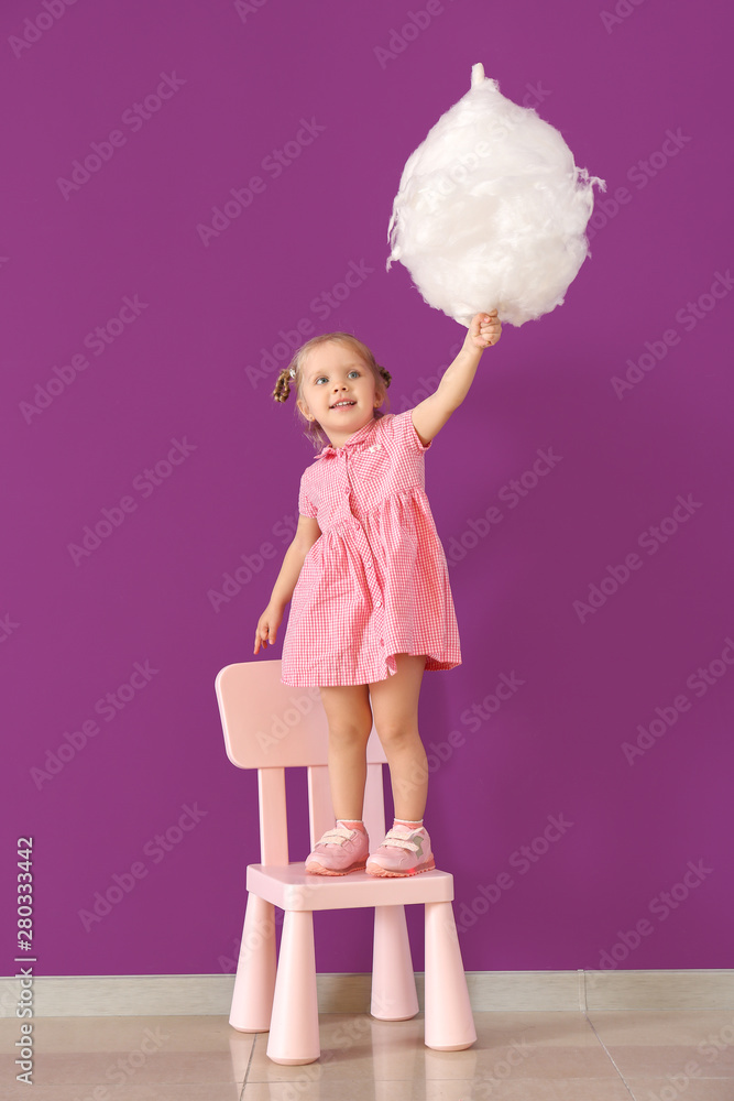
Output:
<instances>
[{"instance_id":1,"label":"whole pink plastic child's chair the girl stands on","mask_svg":"<svg viewBox=\"0 0 734 1101\"><path fill-rule=\"evenodd\" d=\"M418 1012L405 905L425 904L425 1043L438 1051L471 1047L476 1031L453 920L453 876L438 869L399 879L366 872L311 875L289 863L285 768L308 770L310 844L333 827L327 771L328 724L318 688L281 683L281 662L228 665L216 679L227 755L258 770L260 864L249 864L248 906L229 1023L240 1032L270 1032L273 1062L306 1064L320 1056L314 911L374 906L371 1013L406 1021ZM385 832L382 768L386 759L372 729L368 743L364 824L371 844ZM307 854L304 838L304 857ZM284 911L275 952L274 906Z\"/></svg>"}]
</instances>

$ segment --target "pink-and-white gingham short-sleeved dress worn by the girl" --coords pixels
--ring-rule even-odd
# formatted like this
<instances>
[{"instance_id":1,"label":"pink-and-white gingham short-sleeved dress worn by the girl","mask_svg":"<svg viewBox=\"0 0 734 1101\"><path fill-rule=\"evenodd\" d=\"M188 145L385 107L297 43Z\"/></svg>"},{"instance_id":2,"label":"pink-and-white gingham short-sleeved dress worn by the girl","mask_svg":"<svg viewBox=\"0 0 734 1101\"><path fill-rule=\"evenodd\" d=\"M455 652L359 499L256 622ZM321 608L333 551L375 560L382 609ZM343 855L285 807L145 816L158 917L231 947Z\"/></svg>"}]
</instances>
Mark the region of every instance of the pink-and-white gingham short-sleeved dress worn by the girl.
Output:
<instances>
[{"instance_id":1,"label":"pink-and-white gingham short-sleeved dress worn by the girl","mask_svg":"<svg viewBox=\"0 0 734 1101\"><path fill-rule=\"evenodd\" d=\"M281 680L369 685L397 672L395 654L426 671L461 665L443 547L425 491L425 453L412 410L373 417L325 447L300 479L298 512L321 535L291 601Z\"/></svg>"}]
</instances>

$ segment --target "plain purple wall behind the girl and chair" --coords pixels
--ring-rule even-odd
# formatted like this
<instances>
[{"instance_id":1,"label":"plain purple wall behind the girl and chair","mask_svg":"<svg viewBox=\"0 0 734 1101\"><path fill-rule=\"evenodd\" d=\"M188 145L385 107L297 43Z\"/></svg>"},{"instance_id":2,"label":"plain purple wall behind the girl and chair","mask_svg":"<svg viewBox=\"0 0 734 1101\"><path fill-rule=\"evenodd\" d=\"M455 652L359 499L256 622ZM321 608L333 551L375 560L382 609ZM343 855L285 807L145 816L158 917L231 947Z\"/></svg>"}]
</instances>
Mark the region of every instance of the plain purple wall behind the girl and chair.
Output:
<instances>
[{"instance_id":1,"label":"plain purple wall behind the girl and chair","mask_svg":"<svg viewBox=\"0 0 734 1101\"><path fill-rule=\"evenodd\" d=\"M427 825L464 964L732 966L720 9L419 4L3 4L2 939L30 833L39 974L231 970L255 776L226 757L213 682L254 659L313 454L259 366L299 325L348 329L393 374L392 412L435 388L465 330L385 272L387 222L479 61L607 190L565 305L505 326L426 458L463 652L424 677ZM208 235L233 190L249 205ZM215 607L243 558L251 581ZM370 970L370 913L357 944L341 924L317 917L318 969Z\"/></svg>"}]
</instances>

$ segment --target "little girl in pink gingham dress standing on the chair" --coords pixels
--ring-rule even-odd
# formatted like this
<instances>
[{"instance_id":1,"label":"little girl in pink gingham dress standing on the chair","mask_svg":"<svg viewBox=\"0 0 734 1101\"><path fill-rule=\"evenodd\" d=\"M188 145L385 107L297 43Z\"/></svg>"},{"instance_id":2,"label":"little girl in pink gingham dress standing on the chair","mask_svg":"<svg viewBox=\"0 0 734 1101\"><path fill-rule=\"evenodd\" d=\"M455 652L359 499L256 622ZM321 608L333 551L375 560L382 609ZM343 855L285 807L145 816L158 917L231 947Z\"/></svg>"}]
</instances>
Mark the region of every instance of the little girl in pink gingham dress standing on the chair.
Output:
<instances>
[{"instance_id":1,"label":"little girl in pink gingham dress standing on the chair","mask_svg":"<svg viewBox=\"0 0 734 1101\"><path fill-rule=\"evenodd\" d=\"M418 694L424 671L460 665L461 651L424 455L467 396L484 348L500 339L496 313L474 315L436 392L399 415L380 412L391 375L348 333L308 340L278 375L275 400L284 402L293 383L306 435L329 440L300 479L298 527L254 646L256 654L261 643L274 644L293 598L281 680L319 687L337 816L307 872L414 875L436 866L423 825L428 767ZM396 817L370 854L362 813L373 721Z\"/></svg>"}]
</instances>

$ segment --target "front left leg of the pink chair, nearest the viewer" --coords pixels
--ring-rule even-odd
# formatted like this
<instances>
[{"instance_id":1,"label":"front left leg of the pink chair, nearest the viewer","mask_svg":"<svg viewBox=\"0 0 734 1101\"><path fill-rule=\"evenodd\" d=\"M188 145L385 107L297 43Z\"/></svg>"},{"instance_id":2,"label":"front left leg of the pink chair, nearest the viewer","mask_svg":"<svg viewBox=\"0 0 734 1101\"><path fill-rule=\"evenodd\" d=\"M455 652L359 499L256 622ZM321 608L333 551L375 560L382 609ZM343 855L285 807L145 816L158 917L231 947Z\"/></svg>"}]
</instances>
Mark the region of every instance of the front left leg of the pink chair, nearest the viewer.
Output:
<instances>
[{"instance_id":1,"label":"front left leg of the pink chair, nearest the viewer","mask_svg":"<svg viewBox=\"0 0 734 1101\"><path fill-rule=\"evenodd\" d=\"M314 915L311 911L287 909L283 915L267 1058L298 1066L315 1062L320 1054Z\"/></svg>"}]
</instances>

